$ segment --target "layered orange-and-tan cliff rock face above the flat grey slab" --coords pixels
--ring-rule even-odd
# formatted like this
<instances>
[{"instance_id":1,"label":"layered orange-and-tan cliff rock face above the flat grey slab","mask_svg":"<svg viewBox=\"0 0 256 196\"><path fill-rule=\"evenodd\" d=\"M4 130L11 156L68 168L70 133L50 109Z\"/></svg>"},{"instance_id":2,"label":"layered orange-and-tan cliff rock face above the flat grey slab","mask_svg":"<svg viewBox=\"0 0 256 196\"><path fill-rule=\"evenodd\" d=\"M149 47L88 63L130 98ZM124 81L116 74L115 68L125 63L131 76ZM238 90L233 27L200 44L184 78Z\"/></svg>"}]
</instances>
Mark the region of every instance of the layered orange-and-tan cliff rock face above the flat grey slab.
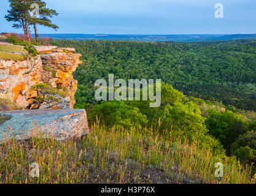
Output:
<instances>
[{"instance_id":1,"label":"layered orange-and-tan cliff rock face above the flat grey slab","mask_svg":"<svg viewBox=\"0 0 256 196\"><path fill-rule=\"evenodd\" d=\"M74 48L35 47L40 55L25 61L0 59L0 99L23 109L71 109L75 104L79 54Z\"/></svg>"}]
</instances>

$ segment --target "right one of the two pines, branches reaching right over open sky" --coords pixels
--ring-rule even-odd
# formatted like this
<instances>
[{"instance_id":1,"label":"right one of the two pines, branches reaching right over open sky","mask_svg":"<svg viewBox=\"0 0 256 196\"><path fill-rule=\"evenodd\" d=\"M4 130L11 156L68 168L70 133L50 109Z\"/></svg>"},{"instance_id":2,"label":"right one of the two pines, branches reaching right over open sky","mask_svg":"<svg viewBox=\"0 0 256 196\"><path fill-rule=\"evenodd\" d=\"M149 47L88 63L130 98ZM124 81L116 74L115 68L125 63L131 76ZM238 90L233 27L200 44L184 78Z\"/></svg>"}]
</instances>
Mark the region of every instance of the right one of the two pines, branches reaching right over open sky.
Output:
<instances>
[{"instance_id":1,"label":"right one of the two pines, branches reaching right over open sky","mask_svg":"<svg viewBox=\"0 0 256 196\"><path fill-rule=\"evenodd\" d=\"M34 34L36 35L36 42L38 41L38 33L37 33L37 27L36 25L43 25L47 26L48 28L58 29L57 25L54 25L52 21L49 18L52 18L53 16L58 16L58 13L56 10L48 9L46 7L46 3L41 0L32 0L32 3L36 3L39 6L39 17L31 17L31 20L29 21L29 24L33 25L34 27Z\"/></svg>"}]
</instances>

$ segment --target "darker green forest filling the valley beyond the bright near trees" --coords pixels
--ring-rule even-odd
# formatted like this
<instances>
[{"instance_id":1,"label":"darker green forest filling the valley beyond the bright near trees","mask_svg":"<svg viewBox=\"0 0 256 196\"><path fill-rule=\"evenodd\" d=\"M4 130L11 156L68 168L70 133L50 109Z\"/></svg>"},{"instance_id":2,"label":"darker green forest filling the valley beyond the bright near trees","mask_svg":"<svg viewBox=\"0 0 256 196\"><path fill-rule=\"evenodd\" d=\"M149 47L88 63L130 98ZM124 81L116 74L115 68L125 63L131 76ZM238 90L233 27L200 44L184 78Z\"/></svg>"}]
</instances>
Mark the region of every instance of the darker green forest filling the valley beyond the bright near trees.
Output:
<instances>
[{"instance_id":1,"label":"darker green forest filling the valley beyond the bright near trees","mask_svg":"<svg viewBox=\"0 0 256 196\"><path fill-rule=\"evenodd\" d=\"M218 100L242 110L256 111L256 40L213 43L69 41L52 45L74 47L83 64L77 104L96 104L98 78L158 79L187 96Z\"/></svg>"}]
</instances>

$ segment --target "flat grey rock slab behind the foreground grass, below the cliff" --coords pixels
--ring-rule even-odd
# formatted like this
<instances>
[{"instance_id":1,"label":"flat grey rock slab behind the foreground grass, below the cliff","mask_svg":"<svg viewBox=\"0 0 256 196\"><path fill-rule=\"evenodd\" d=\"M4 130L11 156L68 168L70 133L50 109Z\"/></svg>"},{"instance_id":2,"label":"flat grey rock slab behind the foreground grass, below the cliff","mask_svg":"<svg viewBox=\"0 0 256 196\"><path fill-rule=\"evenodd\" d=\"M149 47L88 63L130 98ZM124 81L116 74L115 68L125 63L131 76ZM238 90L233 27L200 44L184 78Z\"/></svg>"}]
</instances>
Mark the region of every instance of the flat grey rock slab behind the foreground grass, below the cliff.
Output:
<instances>
[{"instance_id":1,"label":"flat grey rock slab behind the foreground grass, below the cliff","mask_svg":"<svg viewBox=\"0 0 256 196\"><path fill-rule=\"evenodd\" d=\"M8 135L14 135L17 140L30 138L38 130L56 140L80 138L88 132L85 110L15 110L0 112L1 115L10 118L0 124L0 143L8 140ZM37 131L35 125L39 127Z\"/></svg>"}]
</instances>

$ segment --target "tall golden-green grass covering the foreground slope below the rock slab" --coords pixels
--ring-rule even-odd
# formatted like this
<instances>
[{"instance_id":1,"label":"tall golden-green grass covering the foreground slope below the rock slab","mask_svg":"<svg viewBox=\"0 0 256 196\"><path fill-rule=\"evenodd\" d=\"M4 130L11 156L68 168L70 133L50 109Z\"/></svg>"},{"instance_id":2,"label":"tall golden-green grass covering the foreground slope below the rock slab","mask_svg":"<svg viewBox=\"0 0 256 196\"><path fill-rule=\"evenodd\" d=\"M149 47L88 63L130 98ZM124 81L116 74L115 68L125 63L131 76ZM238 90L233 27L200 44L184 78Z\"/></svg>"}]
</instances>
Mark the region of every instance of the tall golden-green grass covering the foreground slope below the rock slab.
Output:
<instances>
[{"instance_id":1,"label":"tall golden-green grass covering the foreground slope below the rock slab","mask_svg":"<svg viewBox=\"0 0 256 196\"><path fill-rule=\"evenodd\" d=\"M34 132L38 129L34 126ZM180 143L171 135L152 130L107 131L94 124L80 141L33 137L0 145L1 183L255 183L250 167L236 159L219 157L196 144ZM39 178L30 165L39 164ZM215 163L224 176L215 178Z\"/></svg>"}]
</instances>

